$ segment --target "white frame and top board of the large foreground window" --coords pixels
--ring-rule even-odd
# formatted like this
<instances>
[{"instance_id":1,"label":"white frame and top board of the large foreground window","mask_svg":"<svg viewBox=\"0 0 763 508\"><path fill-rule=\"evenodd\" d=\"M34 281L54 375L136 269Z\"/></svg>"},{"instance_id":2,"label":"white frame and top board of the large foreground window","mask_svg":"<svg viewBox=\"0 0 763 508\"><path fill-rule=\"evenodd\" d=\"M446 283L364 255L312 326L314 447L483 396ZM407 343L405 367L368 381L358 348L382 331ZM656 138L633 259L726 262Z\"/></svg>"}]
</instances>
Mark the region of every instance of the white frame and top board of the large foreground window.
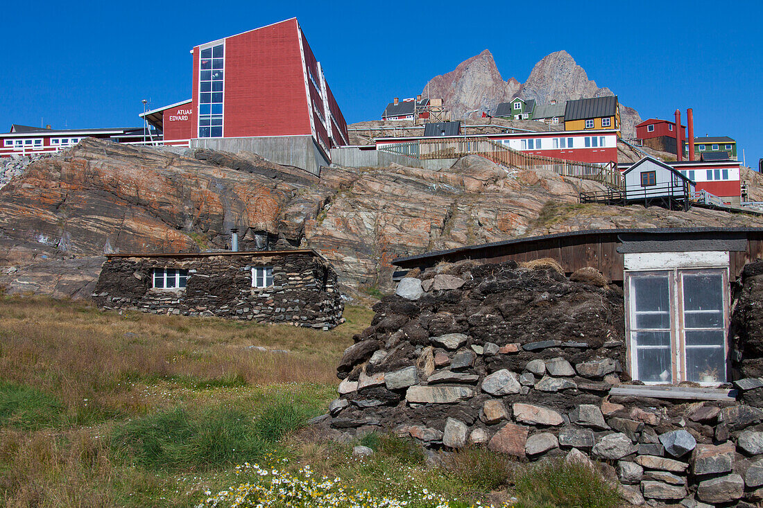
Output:
<instances>
[{"instance_id":1,"label":"white frame and top board of the large foreground window","mask_svg":"<svg viewBox=\"0 0 763 508\"><path fill-rule=\"evenodd\" d=\"M631 280L637 276L668 275L670 300L671 384L687 381L686 339L684 327L683 275L720 274L723 285L723 358L724 372L717 381L699 381L703 386L716 386L729 379L729 252L645 252L626 254L626 270L623 288L626 303L626 355L630 374L636 380L638 355L636 352L636 329L632 326L636 301L631 297ZM672 266L670 266L672 264ZM657 330L657 329L653 329ZM665 329L666 330L666 329ZM693 330L693 329L690 329ZM719 330L719 329L713 329ZM650 347L650 346L641 346ZM658 346L654 346L658 347ZM668 384L668 382L643 381L645 384Z\"/></svg>"}]
</instances>

